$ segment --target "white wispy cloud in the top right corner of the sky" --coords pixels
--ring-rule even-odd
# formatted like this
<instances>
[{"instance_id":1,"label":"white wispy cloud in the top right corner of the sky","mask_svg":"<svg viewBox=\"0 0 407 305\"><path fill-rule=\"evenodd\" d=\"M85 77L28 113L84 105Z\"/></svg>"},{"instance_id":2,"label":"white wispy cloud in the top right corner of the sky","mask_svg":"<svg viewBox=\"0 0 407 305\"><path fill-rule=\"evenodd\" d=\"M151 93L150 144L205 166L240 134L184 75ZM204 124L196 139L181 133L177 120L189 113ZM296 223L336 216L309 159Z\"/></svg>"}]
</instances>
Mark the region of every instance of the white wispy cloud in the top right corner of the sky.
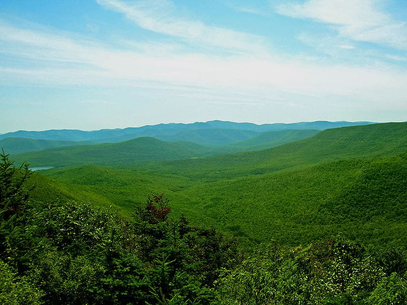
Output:
<instances>
[{"instance_id":1,"label":"white wispy cloud in the top right corner of the sky","mask_svg":"<svg viewBox=\"0 0 407 305\"><path fill-rule=\"evenodd\" d=\"M407 49L407 24L383 11L381 0L308 0L283 3L279 14L327 23L342 37Z\"/></svg>"}]
</instances>

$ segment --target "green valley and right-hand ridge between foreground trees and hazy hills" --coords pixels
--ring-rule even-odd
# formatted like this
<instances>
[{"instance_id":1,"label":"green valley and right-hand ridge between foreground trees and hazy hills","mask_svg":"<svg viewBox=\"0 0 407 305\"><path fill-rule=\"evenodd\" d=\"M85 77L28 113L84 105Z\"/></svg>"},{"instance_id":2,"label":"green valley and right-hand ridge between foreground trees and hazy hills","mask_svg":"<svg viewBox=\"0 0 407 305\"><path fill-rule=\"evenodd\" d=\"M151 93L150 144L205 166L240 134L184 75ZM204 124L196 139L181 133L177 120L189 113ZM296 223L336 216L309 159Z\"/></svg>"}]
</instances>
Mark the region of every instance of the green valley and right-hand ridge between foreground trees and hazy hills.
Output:
<instances>
[{"instance_id":1,"label":"green valley and right-hand ridge between foreground trees and hazy hills","mask_svg":"<svg viewBox=\"0 0 407 305\"><path fill-rule=\"evenodd\" d=\"M298 245L341 231L407 246L407 123L331 129L250 153L43 174L124 214L164 192L177 217L215 224L246 245Z\"/></svg>"}]
</instances>

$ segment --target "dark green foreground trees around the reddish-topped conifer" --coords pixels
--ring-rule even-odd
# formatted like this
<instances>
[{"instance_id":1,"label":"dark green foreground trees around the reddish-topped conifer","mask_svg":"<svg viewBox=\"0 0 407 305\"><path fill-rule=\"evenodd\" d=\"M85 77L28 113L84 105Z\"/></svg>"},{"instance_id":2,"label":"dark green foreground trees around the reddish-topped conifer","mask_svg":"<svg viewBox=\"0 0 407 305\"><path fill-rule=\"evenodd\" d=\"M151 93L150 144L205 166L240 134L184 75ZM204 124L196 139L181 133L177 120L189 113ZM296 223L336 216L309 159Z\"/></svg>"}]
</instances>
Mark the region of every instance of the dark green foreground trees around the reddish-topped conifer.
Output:
<instances>
[{"instance_id":1,"label":"dark green foreground trees around the reddish-topped conifer","mask_svg":"<svg viewBox=\"0 0 407 305\"><path fill-rule=\"evenodd\" d=\"M23 268L5 273L10 288L1 296L24 288L32 303L215 303L213 281L238 261L236 242L169 212L163 195L136 209L133 221L90 204L31 204L16 224L22 242L11 260Z\"/></svg>"}]
</instances>

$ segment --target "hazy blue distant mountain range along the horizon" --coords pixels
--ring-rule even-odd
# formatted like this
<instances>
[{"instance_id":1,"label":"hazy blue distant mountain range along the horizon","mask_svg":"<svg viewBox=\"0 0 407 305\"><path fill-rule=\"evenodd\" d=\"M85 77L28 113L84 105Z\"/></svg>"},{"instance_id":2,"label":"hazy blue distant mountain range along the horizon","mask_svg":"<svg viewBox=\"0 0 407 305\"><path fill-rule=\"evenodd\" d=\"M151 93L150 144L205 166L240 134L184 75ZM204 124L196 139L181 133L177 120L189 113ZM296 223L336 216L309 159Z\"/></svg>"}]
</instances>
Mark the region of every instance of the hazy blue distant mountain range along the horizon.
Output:
<instances>
[{"instance_id":1,"label":"hazy blue distant mountain range along the horizon","mask_svg":"<svg viewBox=\"0 0 407 305\"><path fill-rule=\"evenodd\" d=\"M281 130L325 130L345 126L368 125L372 122L348 121L314 121L291 124L234 123L230 121L213 120L206 123L171 123L153 126L129 127L125 129L101 129L95 131L81 130L46 130L46 131L16 131L0 135L5 138L27 138L59 141L92 141L97 143L122 142L139 137L154 137L162 141L191 141L200 145L221 145L247 140L263 132ZM210 130L210 131L209 131ZM216 134L214 139L214 134Z\"/></svg>"}]
</instances>

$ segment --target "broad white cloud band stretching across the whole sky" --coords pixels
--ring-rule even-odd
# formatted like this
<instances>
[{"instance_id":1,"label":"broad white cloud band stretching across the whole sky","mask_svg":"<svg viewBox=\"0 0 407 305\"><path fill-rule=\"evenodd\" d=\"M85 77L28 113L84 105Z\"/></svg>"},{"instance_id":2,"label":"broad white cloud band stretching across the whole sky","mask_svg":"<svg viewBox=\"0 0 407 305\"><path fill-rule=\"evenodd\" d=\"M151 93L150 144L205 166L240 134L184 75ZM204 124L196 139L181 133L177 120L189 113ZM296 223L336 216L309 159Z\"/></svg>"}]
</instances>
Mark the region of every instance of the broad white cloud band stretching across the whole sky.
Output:
<instances>
[{"instance_id":1,"label":"broad white cloud band stretching across the whole sky","mask_svg":"<svg viewBox=\"0 0 407 305\"><path fill-rule=\"evenodd\" d=\"M263 96L287 92L319 97L352 95L375 100L375 90L405 91L401 88L407 80L406 73L319 66L271 57L171 53L156 56L109 49L92 41L73 41L69 37L34 33L13 26L3 28L1 33L17 32L18 38L14 35L0 35L0 40L7 43L9 52L21 58L38 56L44 63L37 69L3 67L0 75L3 81L19 79L20 82L24 80L41 84L106 86L141 86L150 83L150 86L197 86L210 88L213 92L234 88L242 94L251 92L251 95L256 93ZM81 63L85 66L78 66L77 69L64 66L52 68L48 62L54 61Z\"/></svg>"}]
</instances>

